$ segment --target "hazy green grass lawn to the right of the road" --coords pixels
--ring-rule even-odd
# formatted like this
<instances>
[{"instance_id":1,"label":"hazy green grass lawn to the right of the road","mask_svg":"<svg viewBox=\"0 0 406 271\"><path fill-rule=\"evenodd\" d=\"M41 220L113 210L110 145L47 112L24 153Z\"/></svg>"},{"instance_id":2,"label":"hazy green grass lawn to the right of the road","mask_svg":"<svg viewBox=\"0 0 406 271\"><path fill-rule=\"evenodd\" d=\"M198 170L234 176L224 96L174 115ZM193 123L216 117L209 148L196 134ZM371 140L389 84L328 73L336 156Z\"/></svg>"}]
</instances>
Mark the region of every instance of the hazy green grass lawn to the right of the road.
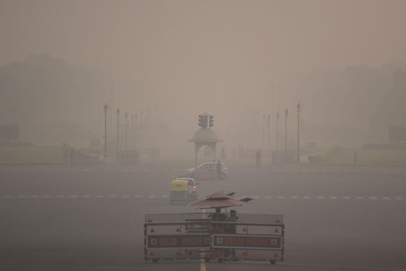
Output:
<instances>
[{"instance_id":1,"label":"hazy green grass lawn to the right of the road","mask_svg":"<svg viewBox=\"0 0 406 271\"><path fill-rule=\"evenodd\" d=\"M341 148L322 165L349 166L354 164L358 152L358 166L406 166L406 150Z\"/></svg>"}]
</instances>

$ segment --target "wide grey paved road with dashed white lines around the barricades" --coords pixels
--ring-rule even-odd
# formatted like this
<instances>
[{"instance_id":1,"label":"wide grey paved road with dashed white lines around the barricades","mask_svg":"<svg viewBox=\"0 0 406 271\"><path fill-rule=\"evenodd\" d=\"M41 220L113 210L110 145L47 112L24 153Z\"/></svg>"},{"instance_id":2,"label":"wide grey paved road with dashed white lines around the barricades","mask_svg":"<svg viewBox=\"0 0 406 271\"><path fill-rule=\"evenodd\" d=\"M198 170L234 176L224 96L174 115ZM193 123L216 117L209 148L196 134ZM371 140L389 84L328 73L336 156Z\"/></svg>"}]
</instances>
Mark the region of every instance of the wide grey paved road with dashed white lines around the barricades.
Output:
<instances>
[{"instance_id":1,"label":"wide grey paved road with dashed white lines around the barricades","mask_svg":"<svg viewBox=\"0 0 406 271\"><path fill-rule=\"evenodd\" d=\"M186 167L185 167L186 168ZM144 261L143 214L168 205L179 163L137 167L0 167L0 269L217 270L219 263ZM240 213L285 215L285 262L223 262L224 270L406 267L406 169L229 165L228 180L199 181L253 197Z\"/></svg>"}]
</instances>

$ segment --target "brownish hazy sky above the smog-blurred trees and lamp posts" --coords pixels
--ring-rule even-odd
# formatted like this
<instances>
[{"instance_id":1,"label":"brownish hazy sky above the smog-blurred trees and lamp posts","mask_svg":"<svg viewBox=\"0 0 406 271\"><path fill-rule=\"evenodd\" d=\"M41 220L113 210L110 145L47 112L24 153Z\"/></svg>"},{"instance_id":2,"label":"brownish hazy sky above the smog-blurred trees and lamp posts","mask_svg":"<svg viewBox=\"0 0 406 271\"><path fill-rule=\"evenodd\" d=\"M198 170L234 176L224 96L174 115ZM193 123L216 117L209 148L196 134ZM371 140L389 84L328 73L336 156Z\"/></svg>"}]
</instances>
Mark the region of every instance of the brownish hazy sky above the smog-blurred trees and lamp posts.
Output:
<instances>
[{"instance_id":1,"label":"brownish hazy sky above the smog-blurred trees and lamp posts","mask_svg":"<svg viewBox=\"0 0 406 271\"><path fill-rule=\"evenodd\" d=\"M260 107L272 82L285 90L315 66L406 59L404 11L402 0L0 0L0 65L49 53L111 76L101 100L114 81L124 108L200 97L194 117L218 108L213 94ZM284 105L303 99L294 92Z\"/></svg>"}]
</instances>

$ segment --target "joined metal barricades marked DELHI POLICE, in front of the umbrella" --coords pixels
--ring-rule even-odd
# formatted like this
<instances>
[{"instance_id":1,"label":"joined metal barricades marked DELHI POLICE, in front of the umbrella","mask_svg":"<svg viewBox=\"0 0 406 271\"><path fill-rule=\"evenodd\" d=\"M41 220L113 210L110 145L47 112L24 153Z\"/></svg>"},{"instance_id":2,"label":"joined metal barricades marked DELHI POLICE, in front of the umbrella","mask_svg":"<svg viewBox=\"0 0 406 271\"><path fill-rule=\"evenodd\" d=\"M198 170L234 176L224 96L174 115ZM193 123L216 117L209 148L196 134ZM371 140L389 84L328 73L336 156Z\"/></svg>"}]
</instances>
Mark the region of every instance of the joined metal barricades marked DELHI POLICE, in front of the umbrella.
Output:
<instances>
[{"instance_id":1,"label":"joined metal barricades marked DELHI POLICE, in front of the umbrella","mask_svg":"<svg viewBox=\"0 0 406 271\"><path fill-rule=\"evenodd\" d=\"M145 260L284 261L282 215L238 214L235 222L216 221L220 231L213 231L211 215L145 215ZM230 234L226 225L232 225L235 234Z\"/></svg>"}]
</instances>

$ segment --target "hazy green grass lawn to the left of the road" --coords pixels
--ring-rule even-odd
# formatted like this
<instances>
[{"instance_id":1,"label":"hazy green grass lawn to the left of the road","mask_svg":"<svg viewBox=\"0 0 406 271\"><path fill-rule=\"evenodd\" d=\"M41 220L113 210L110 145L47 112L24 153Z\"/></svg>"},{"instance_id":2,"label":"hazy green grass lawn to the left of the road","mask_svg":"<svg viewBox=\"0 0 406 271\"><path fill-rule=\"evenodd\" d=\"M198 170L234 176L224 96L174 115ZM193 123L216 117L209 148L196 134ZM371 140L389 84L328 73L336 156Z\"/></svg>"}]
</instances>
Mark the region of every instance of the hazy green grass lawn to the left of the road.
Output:
<instances>
[{"instance_id":1,"label":"hazy green grass lawn to the left of the road","mask_svg":"<svg viewBox=\"0 0 406 271\"><path fill-rule=\"evenodd\" d=\"M56 146L0 147L0 164L61 164L63 153Z\"/></svg>"}]
</instances>

